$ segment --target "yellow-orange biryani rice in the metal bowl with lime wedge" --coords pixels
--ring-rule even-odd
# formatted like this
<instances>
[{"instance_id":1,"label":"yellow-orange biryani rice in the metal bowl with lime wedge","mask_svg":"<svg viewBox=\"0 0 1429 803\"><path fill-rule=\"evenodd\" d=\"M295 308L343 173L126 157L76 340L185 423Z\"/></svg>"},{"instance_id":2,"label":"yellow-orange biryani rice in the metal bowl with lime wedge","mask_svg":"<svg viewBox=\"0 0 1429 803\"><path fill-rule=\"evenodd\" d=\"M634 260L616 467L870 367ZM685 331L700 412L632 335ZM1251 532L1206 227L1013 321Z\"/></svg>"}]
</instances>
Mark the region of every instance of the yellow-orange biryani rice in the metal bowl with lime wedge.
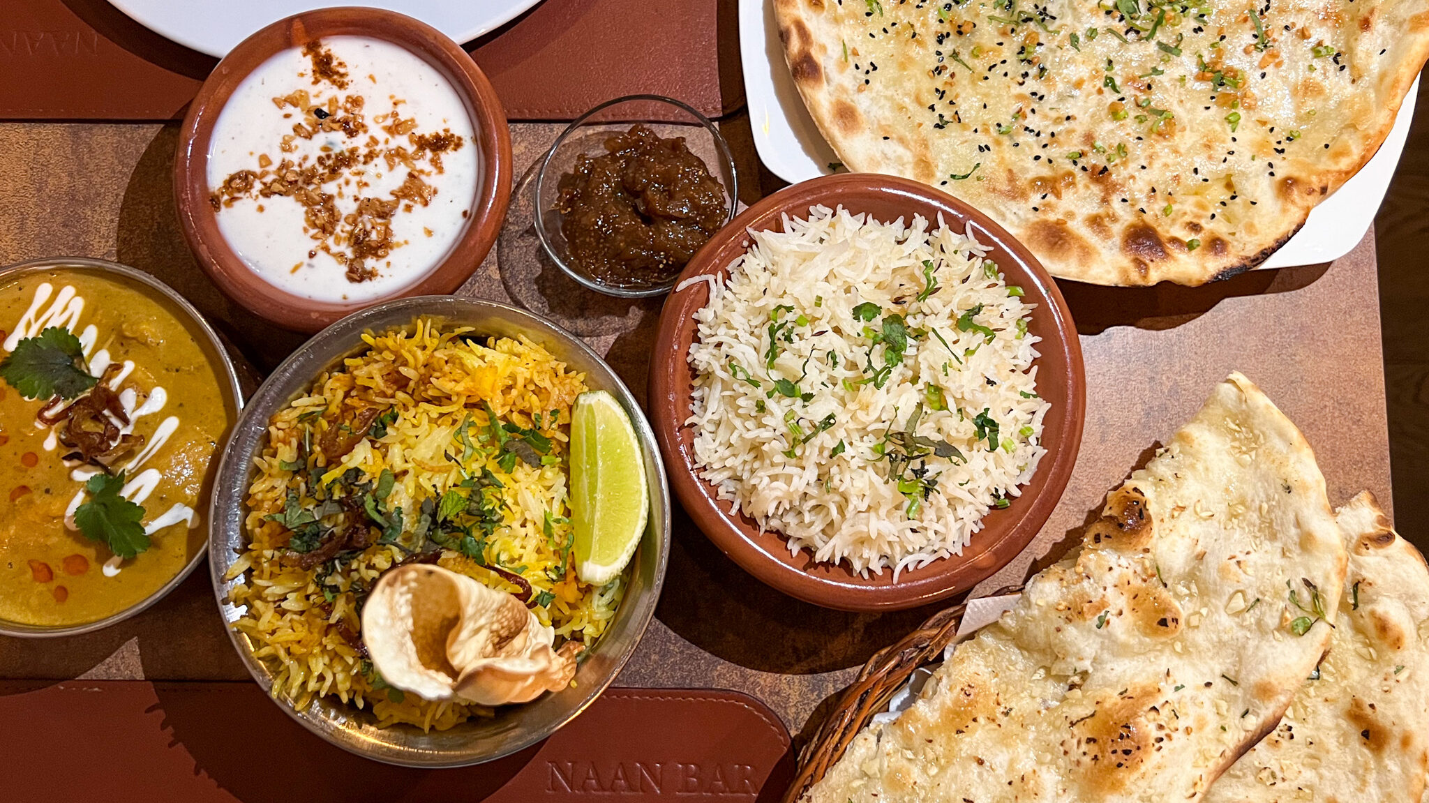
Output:
<instances>
[{"instance_id":1,"label":"yellow-orange biryani rice in the metal bowl with lime wedge","mask_svg":"<svg viewBox=\"0 0 1429 803\"><path fill-rule=\"evenodd\" d=\"M422 546L414 530L423 500L466 487L463 480L484 469L499 483L487 489L499 497L500 507L493 507L500 510L499 524L486 537L480 560L442 549L436 563L513 593L520 587L483 563L514 572L530 583L532 599L546 603L533 610L559 640L577 639L589 649L600 637L620 603L624 579L589 586L576 577L569 559L566 443L570 406L586 390L584 376L524 337L484 346L470 329L443 329L430 320L416 321L409 331L363 339L367 350L317 377L307 394L269 424L247 496L250 544L227 573L237 580L229 599L244 607L233 627L273 672L273 694L299 710L314 697L332 696L370 707L383 727L409 723L443 730L493 712L386 687L359 653L360 602L383 572ZM397 417L384 434L374 437L373 430L329 464L312 444L363 404L384 406ZM549 439L549 454L539 466L524 460L503 466L494 444L473 440L489 432L487 406L499 422ZM459 464L463 459L466 464ZM387 503L403 512L397 543L377 543L313 569L299 566L300 556L289 549L293 533L273 520L282 517L289 494L309 499L307 484L319 473L322 483L333 483L354 476L350 470L376 480L384 469L394 480Z\"/></svg>"}]
</instances>

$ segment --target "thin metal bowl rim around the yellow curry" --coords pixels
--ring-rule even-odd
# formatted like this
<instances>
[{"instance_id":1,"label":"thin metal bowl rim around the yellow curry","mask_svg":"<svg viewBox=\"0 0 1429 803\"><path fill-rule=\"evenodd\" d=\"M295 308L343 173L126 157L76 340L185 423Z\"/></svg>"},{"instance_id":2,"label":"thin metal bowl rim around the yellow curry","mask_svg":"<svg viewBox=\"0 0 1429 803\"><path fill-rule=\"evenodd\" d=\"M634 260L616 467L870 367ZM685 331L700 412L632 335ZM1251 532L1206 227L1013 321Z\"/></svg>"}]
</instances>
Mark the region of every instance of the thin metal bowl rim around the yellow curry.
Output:
<instances>
[{"instance_id":1,"label":"thin metal bowl rim around the yellow curry","mask_svg":"<svg viewBox=\"0 0 1429 803\"><path fill-rule=\"evenodd\" d=\"M183 296L180 296L171 287L154 279L153 276L141 270L134 270L133 267L127 267L114 261L106 261L101 259L51 257L51 259L21 261L7 267L0 267L0 281L9 281L29 273L44 273L47 270L59 270L59 269L89 270L94 273L104 273L109 276L119 276L136 284L149 287L161 300L169 301L169 304L171 304L170 311L173 311L179 320L183 320L193 327L196 339L199 340L199 346L204 351L207 351L209 359L213 360L213 364L219 369L217 373L220 381L227 380L227 387L224 390L229 391L227 396L229 396L229 403L233 404L233 414L234 416L239 414L239 410L243 409L243 390L239 384L239 374L233 367L233 359L229 357L229 353L224 350L223 343L219 341L219 336L214 334L213 329L210 329L207 321L203 320L203 316L199 314L199 310L193 309L193 304L190 304ZM213 476L211 462L209 467L211 477ZM210 537L211 537L211 530L210 530ZM204 547L207 547L207 544L209 542L206 540ZM26 639L49 639L57 636L79 636L80 633L90 633L101 627L109 627L110 624L117 624L129 619L130 616L140 613L141 610L147 609L156 602L161 600L164 594L174 590L174 587L177 587L179 583L183 583L184 577L193 573L194 567L203 562L204 552L206 549L194 550L193 557L189 559L189 563L184 564L183 570L174 574L171 580L160 586L157 592L149 594L141 602L116 614L106 616L104 619L89 622L84 624L71 624L69 627L43 627L34 624L21 624L19 622L6 622L0 619L0 634L20 636Z\"/></svg>"}]
</instances>

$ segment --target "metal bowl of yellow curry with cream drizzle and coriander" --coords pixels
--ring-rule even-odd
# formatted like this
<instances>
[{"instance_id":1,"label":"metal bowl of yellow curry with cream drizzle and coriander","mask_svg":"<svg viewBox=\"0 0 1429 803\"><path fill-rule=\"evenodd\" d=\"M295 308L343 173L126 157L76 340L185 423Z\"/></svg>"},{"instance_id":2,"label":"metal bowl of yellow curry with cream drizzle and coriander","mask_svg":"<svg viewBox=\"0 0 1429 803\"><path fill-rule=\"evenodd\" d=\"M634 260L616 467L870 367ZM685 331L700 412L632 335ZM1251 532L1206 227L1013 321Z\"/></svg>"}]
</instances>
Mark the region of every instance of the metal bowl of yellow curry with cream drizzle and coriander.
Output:
<instances>
[{"instance_id":1,"label":"metal bowl of yellow curry with cream drizzle and coriander","mask_svg":"<svg viewBox=\"0 0 1429 803\"><path fill-rule=\"evenodd\" d=\"M217 336L159 280L0 269L0 633L87 633L177 586L240 406Z\"/></svg>"}]
</instances>

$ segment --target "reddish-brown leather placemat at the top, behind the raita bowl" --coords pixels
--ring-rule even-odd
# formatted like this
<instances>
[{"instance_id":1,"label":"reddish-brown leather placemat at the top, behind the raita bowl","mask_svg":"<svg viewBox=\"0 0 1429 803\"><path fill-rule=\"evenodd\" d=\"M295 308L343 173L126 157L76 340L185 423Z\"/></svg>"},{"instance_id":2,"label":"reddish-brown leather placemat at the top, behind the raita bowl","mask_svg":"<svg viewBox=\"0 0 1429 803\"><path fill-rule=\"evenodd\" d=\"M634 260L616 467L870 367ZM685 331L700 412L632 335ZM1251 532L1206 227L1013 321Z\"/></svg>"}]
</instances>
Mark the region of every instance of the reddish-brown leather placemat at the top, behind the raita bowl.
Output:
<instances>
[{"instance_id":1,"label":"reddish-brown leather placemat at the top, behind the raita bowl","mask_svg":"<svg viewBox=\"0 0 1429 803\"><path fill-rule=\"evenodd\" d=\"M469 49L512 120L633 93L719 117L743 104L733 19L732 0L546 0ZM216 63L106 0L0 0L0 119L177 119Z\"/></svg>"}]
</instances>

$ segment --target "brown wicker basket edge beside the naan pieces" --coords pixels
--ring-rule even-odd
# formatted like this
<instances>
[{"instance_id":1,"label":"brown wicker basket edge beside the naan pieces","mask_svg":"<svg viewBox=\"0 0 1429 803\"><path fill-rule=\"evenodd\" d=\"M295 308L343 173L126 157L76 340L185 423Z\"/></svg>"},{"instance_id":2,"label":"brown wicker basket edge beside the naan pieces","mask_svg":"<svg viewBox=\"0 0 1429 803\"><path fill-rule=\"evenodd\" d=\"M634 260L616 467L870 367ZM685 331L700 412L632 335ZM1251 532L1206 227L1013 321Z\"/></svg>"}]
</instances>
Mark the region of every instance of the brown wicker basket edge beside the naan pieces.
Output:
<instances>
[{"instance_id":1,"label":"brown wicker basket edge beside the naan pieces","mask_svg":"<svg viewBox=\"0 0 1429 803\"><path fill-rule=\"evenodd\" d=\"M1020 586L1000 589L990 596L1015 594ZM853 684L839 697L829 719L819 726L807 744L799 750L799 766L795 780L785 793L783 803L795 803L813 784L819 783L847 750L853 737L863 730L873 714L886 712L893 694L907 683L913 670L942 660L943 650L957 636L957 624L963 620L967 603L935 613L895 644L873 653L863 664Z\"/></svg>"}]
</instances>

